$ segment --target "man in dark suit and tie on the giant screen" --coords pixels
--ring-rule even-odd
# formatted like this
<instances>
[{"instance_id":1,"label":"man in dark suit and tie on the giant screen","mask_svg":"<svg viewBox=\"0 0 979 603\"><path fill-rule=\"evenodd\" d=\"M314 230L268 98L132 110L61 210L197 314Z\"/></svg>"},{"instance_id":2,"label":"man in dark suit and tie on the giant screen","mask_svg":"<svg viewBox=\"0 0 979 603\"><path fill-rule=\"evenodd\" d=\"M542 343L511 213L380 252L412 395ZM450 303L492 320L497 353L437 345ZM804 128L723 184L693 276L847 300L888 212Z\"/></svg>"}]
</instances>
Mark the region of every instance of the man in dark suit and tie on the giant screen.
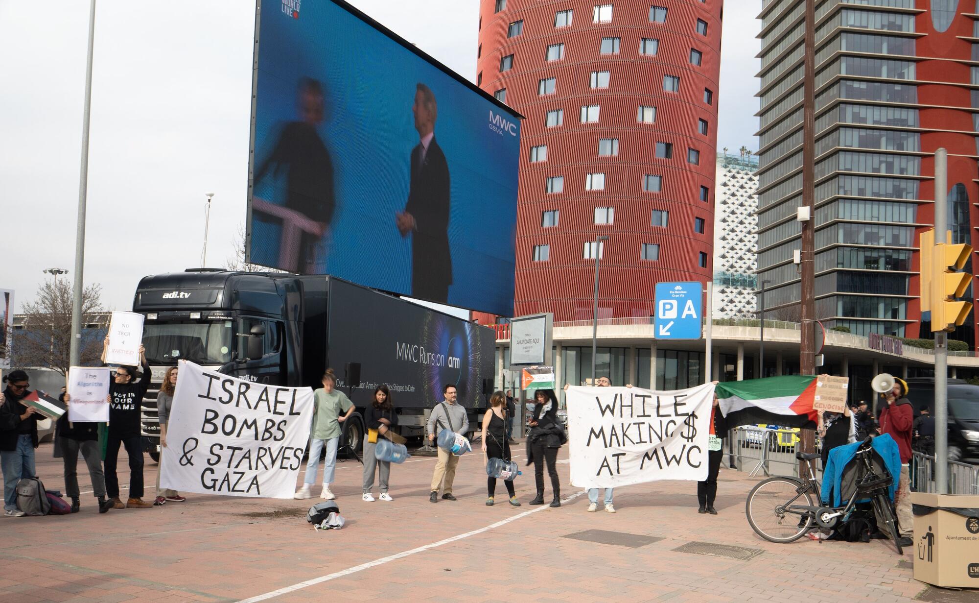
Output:
<instances>
[{"instance_id":1,"label":"man in dark suit and tie on the giant screen","mask_svg":"<svg viewBox=\"0 0 979 603\"><path fill-rule=\"evenodd\" d=\"M411 297L448 301L452 257L448 250L448 163L435 140L435 94L419 83L415 91L415 129L421 142L411 150L408 202L396 212L401 236L411 233Z\"/></svg>"}]
</instances>

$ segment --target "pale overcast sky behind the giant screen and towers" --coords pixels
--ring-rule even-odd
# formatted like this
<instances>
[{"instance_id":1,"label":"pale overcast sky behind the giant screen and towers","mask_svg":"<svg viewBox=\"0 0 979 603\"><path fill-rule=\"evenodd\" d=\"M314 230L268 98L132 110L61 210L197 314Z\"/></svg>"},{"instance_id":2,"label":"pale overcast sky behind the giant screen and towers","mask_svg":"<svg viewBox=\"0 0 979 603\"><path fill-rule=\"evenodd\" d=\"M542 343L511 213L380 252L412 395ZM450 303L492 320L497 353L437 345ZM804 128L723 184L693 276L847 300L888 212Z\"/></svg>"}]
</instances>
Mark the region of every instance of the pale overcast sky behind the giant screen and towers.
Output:
<instances>
[{"instance_id":1,"label":"pale overcast sky behind the giant screen and towers","mask_svg":"<svg viewBox=\"0 0 979 603\"><path fill-rule=\"evenodd\" d=\"M310 1L310 0L307 0ZM274 4L274 2L271 2ZM95 18L85 284L130 309L139 279L207 264L241 243L248 184L254 5L99 0ZM351 0L470 80L476 0ZM761 0L728 0L718 149L754 150ZM736 8L735 8L736 7ZM88 2L0 0L0 289L16 311L49 275L74 278Z\"/></svg>"}]
</instances>

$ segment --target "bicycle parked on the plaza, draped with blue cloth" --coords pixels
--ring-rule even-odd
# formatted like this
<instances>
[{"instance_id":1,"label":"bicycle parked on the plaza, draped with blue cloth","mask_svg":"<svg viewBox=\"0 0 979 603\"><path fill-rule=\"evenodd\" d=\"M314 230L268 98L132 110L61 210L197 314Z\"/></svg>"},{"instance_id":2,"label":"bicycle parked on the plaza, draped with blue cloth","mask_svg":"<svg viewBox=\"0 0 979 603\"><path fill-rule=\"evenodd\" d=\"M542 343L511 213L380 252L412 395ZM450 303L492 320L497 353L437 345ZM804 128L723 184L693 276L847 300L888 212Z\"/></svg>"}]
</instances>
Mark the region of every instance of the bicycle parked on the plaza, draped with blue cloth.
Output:
<instances>
[{"instance_id":1,"label":"bicycle parked on the plaza, draped with blue cloth","mask_svg":"<svg viewBox=\"0 0 979 603\"><path fill-rule=\"evenodd\" d=\"M846 523L850 520L858 499L869 498L878 529L891 538L898 554L903 554L899 541L901 533L887 490L894 480L890 475L874 472L870 464L870 440L867 438L858 447L856 458L862 462L864 473L845 506L821 505L822 496L813 471L813 461L819 458L819 454L796 452L797 459L807 461L809 476L805 480L792 476L773 477L751 488L745 501L745 515L752 530L769 542L794 542L806 533L832 529ZM813 504L814 493L818 505ZM806 504L796 504L796 501L804 501Z\"/></svg>"}]
</instances>

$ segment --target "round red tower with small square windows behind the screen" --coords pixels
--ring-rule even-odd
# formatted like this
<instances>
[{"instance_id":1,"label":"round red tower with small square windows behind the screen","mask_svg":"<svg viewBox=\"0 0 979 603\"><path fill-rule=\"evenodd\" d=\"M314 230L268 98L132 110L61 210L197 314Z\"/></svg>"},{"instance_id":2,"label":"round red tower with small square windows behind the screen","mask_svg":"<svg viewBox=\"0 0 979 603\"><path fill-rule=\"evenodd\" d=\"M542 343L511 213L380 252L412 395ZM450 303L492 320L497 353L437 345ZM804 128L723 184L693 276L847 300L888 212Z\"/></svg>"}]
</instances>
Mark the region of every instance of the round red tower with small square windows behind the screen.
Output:
<instances>
[{"instance_id":1,"label":"round red tower with small square windows behind the screen","mask_svg":"<svg viewBox=\"0 0 979 603\"><path fill-rule=\"evenodd\" d=\"M481 0L477 83L521 124L516 315L649 316L712 274L723 0Z\"/></svg>"}]
</instances>

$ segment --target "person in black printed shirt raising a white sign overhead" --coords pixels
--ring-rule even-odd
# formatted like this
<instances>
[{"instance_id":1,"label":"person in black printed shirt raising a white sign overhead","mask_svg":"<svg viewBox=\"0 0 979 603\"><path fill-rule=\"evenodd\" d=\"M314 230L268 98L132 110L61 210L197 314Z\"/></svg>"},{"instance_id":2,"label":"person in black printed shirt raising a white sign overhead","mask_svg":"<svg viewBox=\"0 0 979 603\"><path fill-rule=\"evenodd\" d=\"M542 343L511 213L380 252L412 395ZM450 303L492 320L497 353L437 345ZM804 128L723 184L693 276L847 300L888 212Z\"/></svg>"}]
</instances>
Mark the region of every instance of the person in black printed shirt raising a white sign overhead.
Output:
<instances>
[{"instance_id":1,"label":"person in black printed shirt raising a white sign overhead","mask_svg":"<svg viewBox=\"0 0 979 603\"><path fill-rule=\"evenodd\" d=\"M102 348L102 360L109 350L109 336ZM109 433L106 437L106 492L112 499L114 509L132 507L151 509L153 503L143 501L143 436L140 427L140 410L143 396L150 389L150 364L146 361L146 350L139 347L139 362L143 366L143 376L136 378L135 366L117 366L116 377L109 384ZM116 465L119 444L125 447L129 456L129 500L123 504L119 499L119 479Z\"/></svg>"}]
</instances>

